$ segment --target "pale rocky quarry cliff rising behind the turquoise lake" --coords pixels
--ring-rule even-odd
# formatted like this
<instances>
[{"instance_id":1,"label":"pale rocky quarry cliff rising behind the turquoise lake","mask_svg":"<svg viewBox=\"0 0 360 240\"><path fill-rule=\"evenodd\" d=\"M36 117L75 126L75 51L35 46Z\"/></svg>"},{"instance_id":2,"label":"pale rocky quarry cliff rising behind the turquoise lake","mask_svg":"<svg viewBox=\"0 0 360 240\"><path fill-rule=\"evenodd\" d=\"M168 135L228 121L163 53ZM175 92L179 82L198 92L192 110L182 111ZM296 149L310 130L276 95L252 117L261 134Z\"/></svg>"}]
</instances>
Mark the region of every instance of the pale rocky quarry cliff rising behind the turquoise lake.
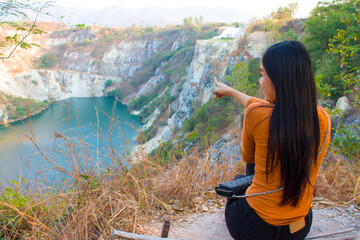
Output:
<instances>
[{"instance_id":1,"label":"pale rocky quarry cliff rising behind the turquoise lake","mask_svg":"<svg viewBox=\"0 0 360 240\"><path fill-rule=\"evenodd\" d=\"M215 76L224 80L234 63L259 58L271 39L265 32L212 39L221 30L206 30L212 34L202 39L174 29L117 39L109 36L124 30L55 29L31 39L42 48L18 51L0 63L0 89L39 101L113 95L143 117L142 130L152 131L148 148L154 148L211 98ZM44 56L54 63L41 65ZM0 111L6 121L6 105Z\"/></svg>"}]
</instances>

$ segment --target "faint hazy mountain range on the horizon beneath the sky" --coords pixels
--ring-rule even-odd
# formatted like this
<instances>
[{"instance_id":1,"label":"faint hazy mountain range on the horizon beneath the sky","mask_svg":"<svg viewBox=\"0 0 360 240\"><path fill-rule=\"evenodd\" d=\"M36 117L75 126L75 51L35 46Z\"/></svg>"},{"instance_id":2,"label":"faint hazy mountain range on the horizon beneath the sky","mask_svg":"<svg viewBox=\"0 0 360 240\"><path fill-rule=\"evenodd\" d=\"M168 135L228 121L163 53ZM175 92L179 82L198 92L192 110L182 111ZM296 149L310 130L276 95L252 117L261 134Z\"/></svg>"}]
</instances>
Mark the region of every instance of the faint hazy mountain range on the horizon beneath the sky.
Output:
<instances>
[{"instance_id":1,"label":"faint hazy mountain range on the horizon beneath the sky","mask_svg":"<svg viewBox=\"0 0 360 240\"><path fill-rule=\"evenodd\" d=\"M51 9L56 16L64 16L66 24L85 23L86 25L128 27L136 23L137 26L164 26L167 24L181 24L184 18L192 16L203 16L204 22L247 22L253 14L231 9L231 8L121 8L109 6L104 9L89 9L79 7L78 9L56 5ZM51 20L40 18L40 20Z\"/></svg>"}]
</instances>

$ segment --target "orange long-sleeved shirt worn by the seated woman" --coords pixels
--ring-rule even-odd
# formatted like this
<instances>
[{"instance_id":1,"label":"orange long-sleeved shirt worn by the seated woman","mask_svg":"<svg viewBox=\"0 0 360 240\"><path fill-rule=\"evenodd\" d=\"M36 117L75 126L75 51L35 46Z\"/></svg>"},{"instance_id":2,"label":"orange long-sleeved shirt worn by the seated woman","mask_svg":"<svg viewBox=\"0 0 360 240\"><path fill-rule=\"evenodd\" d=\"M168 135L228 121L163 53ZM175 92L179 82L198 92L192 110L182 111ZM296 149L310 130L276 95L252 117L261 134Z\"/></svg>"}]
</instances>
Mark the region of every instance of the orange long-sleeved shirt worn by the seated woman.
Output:
<instances>
[{"instance_id":1,"label":"orange long-sleeved shirt worn by the seated woman","mask_svg":"<svg viewBox=\"0 0 360 240\"><path fill-rule=\"evenodd\" d=\"M275 105L267 101L251 98L247 103L244 127L242 133L242 159L247 163L255 163L255 176L252 185L247 189L246 194L260 193L274 190L282 186L280 183L280 163L268 175L266 181L266 155L269 138L270 117ZM325 110L325 109L323 109ZM328 115L327 111L325 110ZM324 141L328 126L328 120L318 107L320 125L320 146ZM330 119L330 117L329 117ZM330 133L325 141L324 149L319 155L316 164L313 164L310 173L310 182L314 186L315 179L329 145ZM287 225L304 218L311 207L313 187L308 184L299 204L296 207L290 205L280 206L283 190L278 192L246 198L249 205L266 222L281 226Z\"/></svg>"}]
</instances>

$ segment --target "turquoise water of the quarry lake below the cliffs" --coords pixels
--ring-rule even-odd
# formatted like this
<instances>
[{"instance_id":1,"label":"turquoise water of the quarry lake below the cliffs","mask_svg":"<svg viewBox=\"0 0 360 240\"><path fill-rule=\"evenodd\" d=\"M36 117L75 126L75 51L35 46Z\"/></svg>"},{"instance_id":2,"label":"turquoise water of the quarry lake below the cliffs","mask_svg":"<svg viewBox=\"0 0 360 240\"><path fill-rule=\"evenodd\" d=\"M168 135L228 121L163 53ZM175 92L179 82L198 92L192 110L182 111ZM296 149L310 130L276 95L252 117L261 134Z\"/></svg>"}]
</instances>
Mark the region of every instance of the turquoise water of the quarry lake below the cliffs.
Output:
<instances>
[{"instance_id":1,"label":"turquoise water of the quarry lake below the cliffs","mask_svg":"<svg viewBox=\"0 0 360 240\"><path fill-rule=\"evenodd\" d=\"M54 164L70 169L76 162L80 169L85 165L104 169L111 161L109 139L117 156L128 153L136 143L140 119L113 98L70 98L51 104L31 121L11 125L16 129L0 128L1 183L17 175L32 180L58 178L58 172L51 170Z\"/></svg>"}]
</instances>

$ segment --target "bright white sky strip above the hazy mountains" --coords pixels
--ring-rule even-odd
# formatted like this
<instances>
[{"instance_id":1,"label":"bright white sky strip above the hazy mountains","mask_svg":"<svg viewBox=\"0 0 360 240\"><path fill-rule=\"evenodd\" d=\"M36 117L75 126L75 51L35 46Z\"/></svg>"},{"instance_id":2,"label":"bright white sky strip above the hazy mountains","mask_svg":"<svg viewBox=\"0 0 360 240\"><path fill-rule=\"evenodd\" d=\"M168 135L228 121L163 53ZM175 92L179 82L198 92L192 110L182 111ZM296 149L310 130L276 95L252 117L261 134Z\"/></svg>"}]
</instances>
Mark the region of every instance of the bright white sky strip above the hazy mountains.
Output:
<instances>
[{"instance_id":1,"label":"bright white sky strip above the hazy mountains","mask_svg":"<svg viewBox=\"0 0 360 240\"><path fill-rule=\"evenodd\" d=\"M56 0L56 3L68 7L91 7L102 9L108 6L119 6L123 8L144 7L227 7L239 9L257 17L264 17L277 10L280 6L287 6L294 0ZM298 0L298 11L295 17L308 17L318 0Z\"/></svg>"}]
</instances>

